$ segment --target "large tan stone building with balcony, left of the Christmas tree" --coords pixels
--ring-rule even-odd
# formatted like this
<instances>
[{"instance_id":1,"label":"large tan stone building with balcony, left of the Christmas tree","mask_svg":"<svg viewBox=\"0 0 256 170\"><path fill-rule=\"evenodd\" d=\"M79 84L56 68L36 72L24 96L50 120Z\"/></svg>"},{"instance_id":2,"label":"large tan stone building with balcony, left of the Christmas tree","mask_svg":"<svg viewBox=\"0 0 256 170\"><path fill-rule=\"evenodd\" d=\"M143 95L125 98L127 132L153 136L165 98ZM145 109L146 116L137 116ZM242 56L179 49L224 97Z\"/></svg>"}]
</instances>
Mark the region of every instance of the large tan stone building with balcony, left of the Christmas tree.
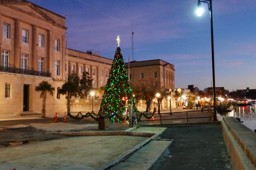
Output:
<instances>
[{"instance_id":1,"label":"large tan stone building with balcony, left of the Christmas tree","mask_svg":"<svg viewBox=\"0 0 256 170\"><path fill-rule=\"evenodd\" d=\"M94 88L105 85L112 60L65 49L65 17L26 0L0 0L0 117L41 112L35 87L43 80L55 88L47 93L46 114L66 111L66 96L58 89L66 70L89 71Z\"/></svg>"}]
</instances>

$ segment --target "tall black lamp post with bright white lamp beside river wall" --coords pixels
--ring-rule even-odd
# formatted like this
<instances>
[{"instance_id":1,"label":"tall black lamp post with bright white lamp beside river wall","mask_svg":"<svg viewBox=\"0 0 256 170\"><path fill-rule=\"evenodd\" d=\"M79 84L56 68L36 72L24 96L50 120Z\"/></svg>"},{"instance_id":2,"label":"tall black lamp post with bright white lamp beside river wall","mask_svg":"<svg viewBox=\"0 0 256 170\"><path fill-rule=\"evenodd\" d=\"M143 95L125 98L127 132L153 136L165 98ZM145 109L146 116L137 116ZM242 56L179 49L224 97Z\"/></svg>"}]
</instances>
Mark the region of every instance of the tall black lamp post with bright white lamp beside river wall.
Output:
<instances>
[{"instance_id":1,"label":"tall black lamp post with bright white lamp beside river wall","mask_svg":"<svg viewBox=\"0 0 256 170\"><path fill-rule=\"evenodd\" d=\"M203 12L204 12L203 8L201 8L201 3L207 3L208 4L208 10L210 11L210 14L211 14L212 82L213 82L213 108L214 108L214 110L213 110L213 120L217 121L216 94L215 94L214 46L213 46L213 24L212 24L212 0L204 0L204 1L198 0L196 14L199 17L201 17Z\"/></svg>"}]
</instances>

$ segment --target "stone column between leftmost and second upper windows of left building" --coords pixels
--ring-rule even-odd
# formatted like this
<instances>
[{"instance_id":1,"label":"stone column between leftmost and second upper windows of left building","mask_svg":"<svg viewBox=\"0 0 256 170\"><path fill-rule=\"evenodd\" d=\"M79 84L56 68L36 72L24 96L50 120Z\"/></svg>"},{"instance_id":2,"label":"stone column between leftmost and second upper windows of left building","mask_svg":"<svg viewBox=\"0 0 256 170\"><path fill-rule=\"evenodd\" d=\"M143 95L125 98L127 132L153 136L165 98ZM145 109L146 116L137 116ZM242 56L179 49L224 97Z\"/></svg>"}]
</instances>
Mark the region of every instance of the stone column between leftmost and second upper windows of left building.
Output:
<instances>
[{"instance_id":1,"label":"stone column between leftmost and second upper windows of left building","mask_svg":"<svg viewBox=\"0 0 256 170\"><path fill-rule=\"evenodd\" d=\"M14 67L20 68L20 45L21 45L21 38L20 38L20 20L15 19L15 26L14 26Z\"/></svg>"}]
</instances>

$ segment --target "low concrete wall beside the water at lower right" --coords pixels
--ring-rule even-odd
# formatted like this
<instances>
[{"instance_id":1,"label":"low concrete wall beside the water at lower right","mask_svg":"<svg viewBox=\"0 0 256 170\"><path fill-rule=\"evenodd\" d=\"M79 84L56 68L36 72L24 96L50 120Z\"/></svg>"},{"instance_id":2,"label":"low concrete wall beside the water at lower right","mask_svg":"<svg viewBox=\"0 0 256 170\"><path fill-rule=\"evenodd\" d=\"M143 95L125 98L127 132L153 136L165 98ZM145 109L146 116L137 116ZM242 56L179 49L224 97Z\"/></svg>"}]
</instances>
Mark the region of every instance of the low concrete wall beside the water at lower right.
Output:
<instances>
[{"instance_id":1,"label":"low concrete wall beside the water at lower right","mask_svg":"<svg viewBox=\"0 0 256 170\"><path fill-rule=\"evenodd\" d=\"M221 124L235 169L256 169L256 133L234 117L223 117Z\"/></svg>"}]
</instances>

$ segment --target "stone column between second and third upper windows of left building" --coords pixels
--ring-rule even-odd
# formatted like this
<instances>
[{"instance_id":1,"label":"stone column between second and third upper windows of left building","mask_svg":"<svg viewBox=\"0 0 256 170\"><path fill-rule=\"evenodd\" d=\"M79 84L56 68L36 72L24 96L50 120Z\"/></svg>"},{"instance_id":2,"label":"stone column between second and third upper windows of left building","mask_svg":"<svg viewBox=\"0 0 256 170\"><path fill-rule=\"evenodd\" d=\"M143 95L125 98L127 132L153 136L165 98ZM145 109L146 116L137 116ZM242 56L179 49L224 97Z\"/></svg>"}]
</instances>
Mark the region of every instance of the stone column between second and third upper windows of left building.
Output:
<instances>
[{"instance_id":1,"label":"stone column between second and third upper windows of left building","mask_svg":"<svg viewBox=\"0 0 256 170\"><path fill-rule=\"evenodd\" d=\"M32 25L32 56L31 56L31 63L32 63L32 70L37 71L37 26Z\"/></svg>"}]
</instances>

